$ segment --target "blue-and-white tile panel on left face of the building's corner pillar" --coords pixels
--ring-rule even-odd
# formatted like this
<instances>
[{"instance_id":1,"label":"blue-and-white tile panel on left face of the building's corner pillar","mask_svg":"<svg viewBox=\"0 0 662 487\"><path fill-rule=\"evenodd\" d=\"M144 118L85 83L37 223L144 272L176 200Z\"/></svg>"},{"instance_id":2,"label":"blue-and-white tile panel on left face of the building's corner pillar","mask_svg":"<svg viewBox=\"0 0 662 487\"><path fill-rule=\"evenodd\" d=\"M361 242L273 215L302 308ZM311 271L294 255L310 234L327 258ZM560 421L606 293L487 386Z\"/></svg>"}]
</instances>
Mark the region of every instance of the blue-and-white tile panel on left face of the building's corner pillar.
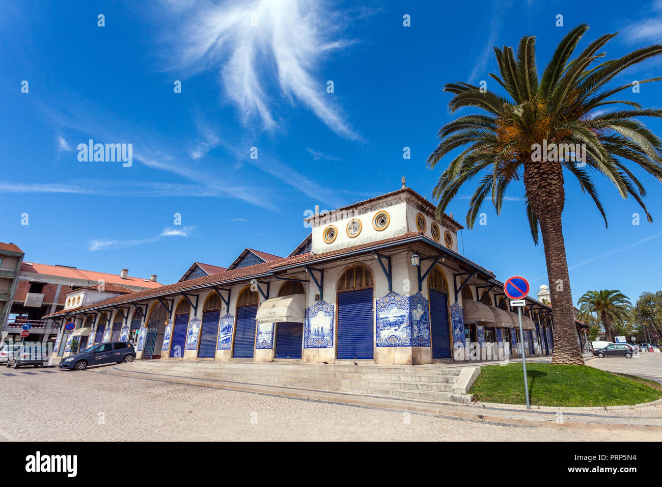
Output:
<instances>
[{"instance_id":1,"label":"blue-and-white tile panel on left face of the building's corner pillar","mask_svg":"<svg viewBox=\"0 0 662 487\"><path fill-rule=\"evenodd\" d=\"M375 301L377 347L411 347L409 298L390 292Z\"/></svg>"}]
</instances>

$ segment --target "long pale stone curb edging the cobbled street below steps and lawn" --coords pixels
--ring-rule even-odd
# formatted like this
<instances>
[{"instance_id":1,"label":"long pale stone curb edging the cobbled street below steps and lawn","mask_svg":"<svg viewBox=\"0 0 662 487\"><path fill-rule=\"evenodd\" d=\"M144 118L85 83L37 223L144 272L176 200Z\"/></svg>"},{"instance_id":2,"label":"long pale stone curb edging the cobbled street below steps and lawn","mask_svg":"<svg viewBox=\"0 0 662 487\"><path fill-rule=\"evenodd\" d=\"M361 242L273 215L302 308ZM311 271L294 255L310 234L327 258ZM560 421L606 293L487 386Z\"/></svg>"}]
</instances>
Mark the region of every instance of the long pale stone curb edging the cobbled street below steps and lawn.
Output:
<instances>
[{"instance_id":1,"label":"long pale stone curb edging the cobbled street below steps and lawn","mask_svg":"<svg viewBox=\"0 0 662 487\"><path fill-rule=\"evenodd\" d=\"M334 404L349 404L352 406L365 406L365 407L375 407L377 409L387 409L391 411L410 411L415 413L424 413L431 414L442 417L455 417L458 419L467 419L471 421L483 421L487 423L496 423L502 425L516 425L516 426L534 426L534 427L557 427L557 428L572 428L572 429L622 429L627 431L638 430L638 431L660 431L662 432L662 425L641 425L641 424L625 424L625 423L599 423L599 422L590 422L590 421L563 421L562 423L557 423L553 419L544 419L538 417L523 418L523 417L512 417L505 414L498 413L479 413L477 411L458 411L455 409L444 408L444 407L433 407L431 406L415 406L415 405L406 405L406 404L394 404L393 401L389 401L387 398L384 400L378 400L376 398L370 399L354 399L354 398L343 398L336 396L334 394L308 394L307 392L297 392L289 390L274 390L273 388L265 388L259 384L256 385L243 385L243 384L210 384L205 380L195 380L192 378L162 378L158 374L146 374L147 376L141 377L137 374L132 374L131 372L125 372L122 370L113 369L101 371L102 374L109 374L115 376L129 377L129 378L139 378L146 380L158 380L160 382L171 382L174 384L185 384L189 386L201 386L208 387L213 389L221 390L233 390L237 392L254 392L256 394L268 394L269 396L281 396L285 398L293 398L299 400L309 400L309 401L323 401L330 402ZM487 404L487 403L483 403ZM460 406L458 404L458 406ZM501 406L501 405L500 405ZM467 406L469 407L469 406ZM534 411L524 411L525 414L530 414Z\"/></svg>"}]
</instances>

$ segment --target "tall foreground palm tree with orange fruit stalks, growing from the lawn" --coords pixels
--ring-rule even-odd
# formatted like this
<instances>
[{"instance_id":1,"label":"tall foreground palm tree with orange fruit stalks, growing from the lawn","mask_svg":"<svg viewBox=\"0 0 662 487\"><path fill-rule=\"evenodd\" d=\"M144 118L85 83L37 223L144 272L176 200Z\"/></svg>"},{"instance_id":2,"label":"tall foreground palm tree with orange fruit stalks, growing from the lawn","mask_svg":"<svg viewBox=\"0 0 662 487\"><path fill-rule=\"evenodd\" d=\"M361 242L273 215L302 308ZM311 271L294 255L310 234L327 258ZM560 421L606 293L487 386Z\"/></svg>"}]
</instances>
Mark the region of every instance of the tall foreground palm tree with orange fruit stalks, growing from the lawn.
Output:
<instances>
[{"instance_id":1,"label":"tall foreground palm tree with orange fruit stalks, growing from the lawn","mask_svg":"<svg viewBox=\"0 0 662 487\"><path fill-rule=\"evenodd\" d=\"M662 117L662 110L642 109L633 101L614 100L613 95L631 87L630 83L606 86L630 66L661 54L662 45L640 48L621 58L598 63L604 56L598 51L616 35L605 34L571 60L588 28L579 25L561 40L540 80L535 37L524 36L520 40L517 58L510 47L495 48L500 76L490 76L507 95L469 83L447 84L444 91L454 95L449 101L451 113L462 107L477 107L486 113L465 115L444 125L438 133L441 142L427 161L428 167L434 168L443 156L463 148L434 187L433 195L439 199L438 217L460 187L485 170L469 202L467 227L470 229L487 196L491 194L499 214L508 185L523 180L531 234L538 244L540 231L545 249L553 305L552 363L555 364L583 364L561 226L564 178L577 178L582 191L589 193L598 207L605 225L606 215L589 170L606 176L622 197L632 195L648 221L652 218L643 203L645 188L622 160L634 162L662 181L662 142L634 118ZM657 80L662 78L639 83ZM614 103L630 106L604 111ZM545 143L547 148L557 144L563 155L559 157L558 152L550 150L549 160L540 162L540 147ZM586 149L573 152L561 144L585 144ZM584 160L573 162L578 152L585 154Z\"/></svg>"}]
</instances>

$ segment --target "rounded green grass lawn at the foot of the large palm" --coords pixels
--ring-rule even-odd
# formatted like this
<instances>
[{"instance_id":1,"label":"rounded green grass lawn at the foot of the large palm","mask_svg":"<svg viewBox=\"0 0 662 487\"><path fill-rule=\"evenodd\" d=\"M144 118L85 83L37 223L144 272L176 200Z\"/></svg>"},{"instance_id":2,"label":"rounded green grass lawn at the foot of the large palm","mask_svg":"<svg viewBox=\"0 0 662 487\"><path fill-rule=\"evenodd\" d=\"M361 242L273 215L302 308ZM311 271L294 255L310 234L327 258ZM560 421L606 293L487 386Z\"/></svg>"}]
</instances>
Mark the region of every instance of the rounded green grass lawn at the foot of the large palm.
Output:
<instances>
[{"instance_id":1,"label":"rounded green grass lawn at the foot of the large palm","mask_svg":"<svg viewBox=\"0 0 662 487\"><path fill-rule=\"evenodd\" d=\"M643 380L589 366L526 364L532 406L622 406L662 398L662 390ZM526 404L522 364L489 365L469 394L481 402Z\"/></svg>"}]
</instances>

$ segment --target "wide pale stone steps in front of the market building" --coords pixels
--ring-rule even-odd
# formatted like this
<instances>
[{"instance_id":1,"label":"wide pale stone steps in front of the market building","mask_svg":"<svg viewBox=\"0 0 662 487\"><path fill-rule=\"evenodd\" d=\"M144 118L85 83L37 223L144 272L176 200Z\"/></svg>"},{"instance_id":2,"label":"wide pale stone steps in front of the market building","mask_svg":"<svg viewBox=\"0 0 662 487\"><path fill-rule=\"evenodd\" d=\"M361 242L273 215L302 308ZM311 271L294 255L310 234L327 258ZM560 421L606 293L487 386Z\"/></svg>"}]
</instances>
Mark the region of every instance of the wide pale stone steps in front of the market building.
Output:
<instances>
[{"instance_id":1,"label":"wide pale stone steps in front of the market building","mask_svg":"<svg viewBox=\"0 0 662 487\"><path fill-rule=\"evenodd\" d=\"M323 393L358 394L399 400L470 403L464 390L453 391L459 368L440 365L302 364L136 360L122 368L177 378L210 378L230 384L262 385Z\"/></svg>"}]
</instances>

